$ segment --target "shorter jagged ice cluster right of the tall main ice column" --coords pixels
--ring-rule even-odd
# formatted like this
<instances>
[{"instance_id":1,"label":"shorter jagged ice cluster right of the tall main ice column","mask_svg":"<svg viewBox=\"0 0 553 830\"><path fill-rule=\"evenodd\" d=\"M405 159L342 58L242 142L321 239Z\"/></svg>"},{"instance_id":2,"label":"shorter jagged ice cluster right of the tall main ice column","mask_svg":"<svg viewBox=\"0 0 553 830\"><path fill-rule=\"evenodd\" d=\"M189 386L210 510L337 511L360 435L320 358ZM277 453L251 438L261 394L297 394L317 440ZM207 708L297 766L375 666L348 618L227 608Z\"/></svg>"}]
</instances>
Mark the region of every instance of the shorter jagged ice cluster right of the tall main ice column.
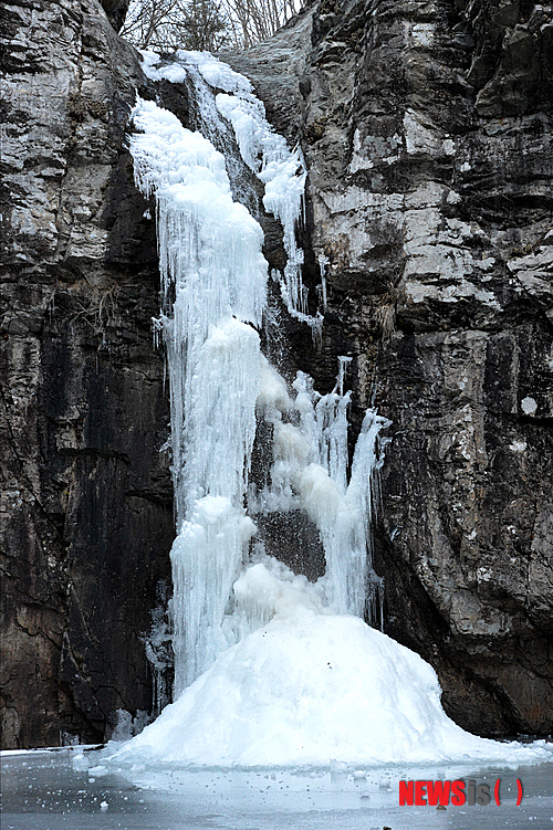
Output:
<instances>
[{"instance_id":1,"label":"shorter jagged ice cluster right of the tall main ice column","mask_svg":"<svg viewBox=\"0 0 553 830\"><path fill-rule=\"evenodd\" d=\"M303 509L314 522L326 558L326 597L336 613L363 617L371 598L371 523L375 503L380 430L389 422L375 410L363 421L347 483L347 406L344 393L345 367L340 358L336 386L321 396L307 375L299 372L293 385L295 399L284 398L269 369L263 375L263 416L273 424L274 462L271 486L250 492L252 513ZM265 384L268 385L265 387ZM271 403L274 389L280 405Z\"/></svg>"}]
</instances>

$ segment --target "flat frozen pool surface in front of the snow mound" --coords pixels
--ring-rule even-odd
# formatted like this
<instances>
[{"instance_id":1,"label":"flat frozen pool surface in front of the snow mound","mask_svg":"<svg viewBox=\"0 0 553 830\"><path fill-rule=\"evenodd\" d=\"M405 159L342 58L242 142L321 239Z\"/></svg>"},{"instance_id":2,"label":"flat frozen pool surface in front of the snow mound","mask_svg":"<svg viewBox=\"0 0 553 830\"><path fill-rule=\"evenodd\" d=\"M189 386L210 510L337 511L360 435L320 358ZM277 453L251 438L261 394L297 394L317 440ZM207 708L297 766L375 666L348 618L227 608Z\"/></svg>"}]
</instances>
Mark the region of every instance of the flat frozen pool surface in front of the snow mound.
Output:
<instances>
[{"instance_id":1,"label":"flat frozen pool surface in front of the snow mound","mask_svg":"<svg viewBox=\"0 0 553 830\"><path fill-rule=\"evenodd\" d=\"M2 830L553 829L553 764L352 771L107 771L97 750L2 754ZM76 767L76 768L75 768ZM86 768L84 768L86 767ZM355 770L359 776L359 771ZM501 806L399 807L398 780L501 778ZM524 797L515 806L520 778Z\"/></svg>"}]
</instances>

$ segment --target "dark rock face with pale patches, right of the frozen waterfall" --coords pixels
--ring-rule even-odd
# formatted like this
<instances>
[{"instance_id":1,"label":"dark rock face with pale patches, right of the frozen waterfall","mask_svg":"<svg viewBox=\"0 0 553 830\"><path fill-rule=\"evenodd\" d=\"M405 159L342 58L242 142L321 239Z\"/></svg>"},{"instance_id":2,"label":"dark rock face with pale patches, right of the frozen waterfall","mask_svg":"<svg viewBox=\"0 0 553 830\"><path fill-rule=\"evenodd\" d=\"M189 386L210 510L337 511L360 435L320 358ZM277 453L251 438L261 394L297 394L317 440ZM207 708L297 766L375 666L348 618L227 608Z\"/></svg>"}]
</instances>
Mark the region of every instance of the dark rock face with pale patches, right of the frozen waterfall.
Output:
<instances>
[{"instance_id":1,"label":"dark rock face with pale patches, right of the frozen waterfall","mask_svg":"<svg viewBox=\"0 0 553 830\"><path fill-rule=\"evenodd\" d=\"M552 20L322 0L228 57L304 149L306 280L330 260L306 368L326 390L352 355L357 422L373 397L394 421L385 630L480 734L552 723Z\"/></svg>"}]
</instances>

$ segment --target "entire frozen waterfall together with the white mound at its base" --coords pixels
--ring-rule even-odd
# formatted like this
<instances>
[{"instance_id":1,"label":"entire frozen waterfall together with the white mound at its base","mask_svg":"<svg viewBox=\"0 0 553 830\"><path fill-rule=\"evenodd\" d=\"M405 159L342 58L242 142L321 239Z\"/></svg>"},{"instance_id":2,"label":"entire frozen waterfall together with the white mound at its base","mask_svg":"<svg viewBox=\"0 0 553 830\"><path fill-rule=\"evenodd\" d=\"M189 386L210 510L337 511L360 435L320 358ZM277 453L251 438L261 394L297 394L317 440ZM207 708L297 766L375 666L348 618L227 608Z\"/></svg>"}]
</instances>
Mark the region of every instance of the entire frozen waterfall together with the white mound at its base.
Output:
<instances>
[{"instance_id":1,"label":"entire frozen waterfall together with the white mound at its base","mask_svg":"<svg viewBox=\"0 0 553 830\"><path fill-rule=\"evenodd\" d=\"M305 171L264 119L251 85L204 53L179 53L146 74L201 76L206 124L221 114L283 224L282 295L306 315L295 228ZM198 87L199 88L199 87ZM153 102L138 98L129 147L135 178L155 196L168 365L177 538L171 549L175 700L117 753L191 765L327 766L459 759L532 760L476 738L441 710L434 670L359 619L371 595L371 522L387 425L368 410L351 471L344 391L321 396L299 372L289 388L261 354L257 328L268 267L262 231L231 197L225 158ZM320 260L326 302L324 258ZM322 319L322 318L321 318ZM319 325L319 323L316 324ZM272 432L267 483L249 482L258 420ZM244 505L248 505L248 513ZM315 585L249 551L252 517L300 509L319 529L326 575ZM357 616L354 616L357 614ZM550 756L547 756L550 757Z\"/></svg>"}]
</instances>

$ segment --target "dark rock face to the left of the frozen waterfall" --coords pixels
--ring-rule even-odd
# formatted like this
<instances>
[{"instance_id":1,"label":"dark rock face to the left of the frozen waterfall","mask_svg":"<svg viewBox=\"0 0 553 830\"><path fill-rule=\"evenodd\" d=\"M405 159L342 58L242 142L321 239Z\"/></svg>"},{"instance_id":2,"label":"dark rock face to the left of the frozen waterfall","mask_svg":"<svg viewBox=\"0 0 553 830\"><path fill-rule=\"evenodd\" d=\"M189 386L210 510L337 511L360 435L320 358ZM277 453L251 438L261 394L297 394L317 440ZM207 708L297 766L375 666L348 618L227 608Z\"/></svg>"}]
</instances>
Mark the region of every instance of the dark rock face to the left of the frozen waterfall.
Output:
<instances>
[{"instance_id":1,"label":"dark rock face to the left of the frozen waterfall","mask_svg":"<svg viewBox=\"0 0 553 830\"><path fill-rule=\"evenodd\" d=\"M154 222L124 151L142 72L93 0L1 14L2 740L28 747L152 708L173 496Z\"/></svg>"}]
</instances>

